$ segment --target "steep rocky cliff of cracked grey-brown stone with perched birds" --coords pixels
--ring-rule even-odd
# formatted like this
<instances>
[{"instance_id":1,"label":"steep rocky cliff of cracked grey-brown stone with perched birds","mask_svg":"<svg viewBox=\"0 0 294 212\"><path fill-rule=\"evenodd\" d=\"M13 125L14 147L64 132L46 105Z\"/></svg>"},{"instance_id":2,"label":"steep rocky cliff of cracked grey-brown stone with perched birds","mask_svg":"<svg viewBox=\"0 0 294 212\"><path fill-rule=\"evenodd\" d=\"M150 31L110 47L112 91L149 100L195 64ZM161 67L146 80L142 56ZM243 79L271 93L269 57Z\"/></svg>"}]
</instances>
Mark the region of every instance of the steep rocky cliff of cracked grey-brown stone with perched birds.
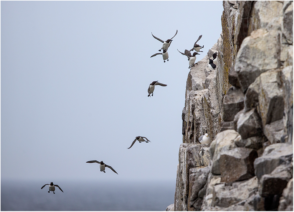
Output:
<instances>
[{"instance_id":1,"label":"steep rocky cliff of cracked grey-brown stone with perched birds","mask_svg":"<svg viewBox=\"0 0 294 212\"><path fill-rule=\"evenodd\" d=\"M220 38L188 74L167 210L293 210L293 1L223 8Z\"/></svg>"}]
</instances>

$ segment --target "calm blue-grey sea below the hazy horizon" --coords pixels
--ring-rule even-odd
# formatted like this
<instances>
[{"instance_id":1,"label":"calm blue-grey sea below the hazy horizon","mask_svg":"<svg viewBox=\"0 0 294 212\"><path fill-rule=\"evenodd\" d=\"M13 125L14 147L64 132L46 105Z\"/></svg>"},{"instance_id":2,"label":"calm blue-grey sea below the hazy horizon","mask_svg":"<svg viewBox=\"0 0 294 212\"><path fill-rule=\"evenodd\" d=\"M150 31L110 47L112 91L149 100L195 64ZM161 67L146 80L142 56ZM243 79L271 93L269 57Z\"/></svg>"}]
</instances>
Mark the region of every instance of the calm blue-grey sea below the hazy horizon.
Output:
<instances>
[{"instance_id":1,"label":"calm blue-grey sea below the hazy horizon","mask_svg":"<svg viewBox=\"0 0 294 212\"><path fill-rule=\"evenodd\" d=\"M175 182L13 182L1 180L1 211L165 211Z\"/></svg>"}]
</instances>

